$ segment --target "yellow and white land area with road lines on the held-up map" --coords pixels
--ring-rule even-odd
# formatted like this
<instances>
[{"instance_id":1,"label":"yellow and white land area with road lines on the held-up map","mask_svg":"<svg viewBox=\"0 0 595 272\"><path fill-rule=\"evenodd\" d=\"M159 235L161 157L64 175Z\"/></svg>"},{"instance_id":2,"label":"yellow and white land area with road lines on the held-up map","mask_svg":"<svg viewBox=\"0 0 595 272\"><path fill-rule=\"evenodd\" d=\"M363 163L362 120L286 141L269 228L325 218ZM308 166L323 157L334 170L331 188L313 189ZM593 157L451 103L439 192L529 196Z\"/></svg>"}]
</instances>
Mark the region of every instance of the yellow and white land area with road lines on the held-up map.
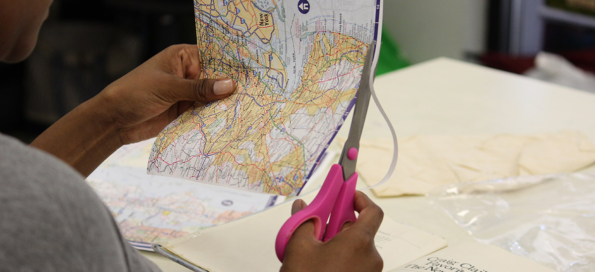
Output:
<instances>
[{"instance_id":1,"label":"yellow and white land area with road lines on the held-up map","mask_svg":"<svg viewBox=\"0 0 595 272\"><path fill-rule=\"evenodd\" d=\"M206 64L201 78L233 78L235 93L183 113L175 125L158 135L153 150L157 154L151 159L170 158L164 153L173 152L171 146L184 141L184 146L195 146L192 156L162 159L167 163L164 166L176 168L179 176L237 188L262 188L258 191L268 194L296 194L324 150L317 146L325 143L308 134L332 135L332 129L340 124L334 114L344 112L355 95L368 45L333 31L309 34L311 37L304 39L314 43L308 45L307 61L299 68L301 84L288 91L288 76L295 71L288 71L287 60L273 49L254 45L266 45L278 36L274 13L259 10L252 1L238 3L195 1L195 8L211 8L208 23L196 20L198 47ZM313 131L323 126L328 132ZM311 131L292 134L302 127ZM199 165L184 165L197 162L196 157L202 158Z\"/></svg>"}]
</instances>

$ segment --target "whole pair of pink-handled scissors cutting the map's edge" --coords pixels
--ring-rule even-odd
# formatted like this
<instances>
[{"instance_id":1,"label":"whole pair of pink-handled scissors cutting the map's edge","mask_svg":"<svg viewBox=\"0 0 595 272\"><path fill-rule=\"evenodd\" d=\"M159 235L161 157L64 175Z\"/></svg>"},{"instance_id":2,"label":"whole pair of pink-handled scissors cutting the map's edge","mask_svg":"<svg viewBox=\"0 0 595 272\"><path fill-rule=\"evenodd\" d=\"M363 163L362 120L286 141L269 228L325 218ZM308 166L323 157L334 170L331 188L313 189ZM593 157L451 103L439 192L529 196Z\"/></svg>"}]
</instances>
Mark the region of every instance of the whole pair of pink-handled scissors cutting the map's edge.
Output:
<instances>
[{"instance_id":1,"label":"whole pair of pink-handled scissors cutting the map's edge","mask_svg":"<svg viewBox=\"0 0 595 272\"><path fill-rule=\"evenodd\" d=\"M328 241L340 232L346 222L355 222L355 209L353 208L353 197L355 185L358 181L358 173L355 172L355 165L358 159L359 139L364 128L366 113L370 99L370 73L372 71L372 58L374 56L375 40L368 46L364 71L359 83L355 110L349 135L339 163L331 166L327 178L324 180L320 191L307 207L289 217L281 226L275 241L277 258L283 262L285 248L293 232L302 223L314 221L314 235L320 241ZM375 70L375 69L374 69ZM330 219L329 219L330 217ZM327 224L328 221L328 224Z\"/></svg>"}]
</instances>

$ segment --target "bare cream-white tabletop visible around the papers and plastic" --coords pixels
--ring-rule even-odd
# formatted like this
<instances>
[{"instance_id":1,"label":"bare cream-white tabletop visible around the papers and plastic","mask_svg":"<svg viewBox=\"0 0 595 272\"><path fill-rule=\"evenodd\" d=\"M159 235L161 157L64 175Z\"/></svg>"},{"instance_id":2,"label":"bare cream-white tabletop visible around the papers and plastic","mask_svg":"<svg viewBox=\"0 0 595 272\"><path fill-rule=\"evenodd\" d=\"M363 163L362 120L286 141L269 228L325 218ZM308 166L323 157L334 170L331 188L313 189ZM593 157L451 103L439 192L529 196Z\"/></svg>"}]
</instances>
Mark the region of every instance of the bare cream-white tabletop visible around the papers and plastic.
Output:
<instances>
[{"instance_id":1,"label":"bare cream-white tabletop visible around the papers and plastic","mask_svg":"<svg viewBox=\"0 0 595 272\"><path fill-rule=\"evenodd\" d=\"M595 143L595 94L475 64L438 58L377 77L374 83L397 137L417 134L532 134L583 131ZM339 132L346 137L350 118ZM362 138L390 138L371 102ZM385 171L386 169L381 169ZM587 171L595 172L595 167ZM320 182L320 181L319 181ZM376 198L384 214L445 238L472 238L426 197ZM152 252L164 271L190 271Z\"/></svg>"}]
</instances>

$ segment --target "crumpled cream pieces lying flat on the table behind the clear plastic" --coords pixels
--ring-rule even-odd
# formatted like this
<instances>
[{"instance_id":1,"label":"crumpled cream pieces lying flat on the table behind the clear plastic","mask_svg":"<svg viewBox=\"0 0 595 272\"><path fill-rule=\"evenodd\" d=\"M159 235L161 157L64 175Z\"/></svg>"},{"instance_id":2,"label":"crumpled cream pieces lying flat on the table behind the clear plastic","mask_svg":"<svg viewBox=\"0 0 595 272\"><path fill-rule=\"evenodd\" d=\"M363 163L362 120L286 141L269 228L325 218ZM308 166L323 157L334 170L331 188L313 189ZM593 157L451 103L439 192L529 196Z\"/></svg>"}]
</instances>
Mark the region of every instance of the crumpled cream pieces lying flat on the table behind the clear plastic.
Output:
<instances>
[{"instance_id":1,"label":"crumpled cream pieces lying flat on the table behind the clear plastic","mask_svg":"<svg viewBox=\"0 0 595 272\"><path fill-rule=\"evenodd\" d=\"M356 169L369 186L384 177L392 146L390 139L361 141ZM399 138L399 158L393 175L372 191L378 197L424 195L441 185L569 173L593 165L595 145L580 131L415 135Z\"/></svg>"}]
</instances>

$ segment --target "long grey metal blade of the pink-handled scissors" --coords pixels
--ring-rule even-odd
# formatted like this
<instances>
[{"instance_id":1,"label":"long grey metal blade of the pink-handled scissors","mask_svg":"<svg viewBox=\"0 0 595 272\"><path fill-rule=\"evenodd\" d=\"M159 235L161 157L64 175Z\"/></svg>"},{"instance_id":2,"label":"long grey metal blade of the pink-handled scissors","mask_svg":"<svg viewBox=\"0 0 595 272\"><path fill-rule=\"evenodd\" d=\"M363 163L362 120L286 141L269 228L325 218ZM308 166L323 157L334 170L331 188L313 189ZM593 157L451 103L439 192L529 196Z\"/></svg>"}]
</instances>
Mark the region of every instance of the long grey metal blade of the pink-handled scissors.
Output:
<instances>
[{"instance_id":1,"label":"long grey metal blade of the pink-handled scissors","mask_svg":"<svg viewBox=\"0 0 595 272\"><path fill-rule=\"evenodd\" d=\"M349 159L349 149L356 148L359 150L359 139L362 135L362 129L364 129L364 122L366 119L366 113L368 112L368 105L370 100L370 73L372 71L372 62L374 59L376 41L372 40L368 46L368 52L366 53L366 60L364 62L364 71L362 71L362 79L359 82L358 92L356 93L355 110L353 110L353 118L351 126L349 128L349 135L343 151L339 159L339 165L343 167L343 180L347 181L353 173L355 173L355 165L357 163L357 157L355 159Z\"/></svg>"}]
</instances>

